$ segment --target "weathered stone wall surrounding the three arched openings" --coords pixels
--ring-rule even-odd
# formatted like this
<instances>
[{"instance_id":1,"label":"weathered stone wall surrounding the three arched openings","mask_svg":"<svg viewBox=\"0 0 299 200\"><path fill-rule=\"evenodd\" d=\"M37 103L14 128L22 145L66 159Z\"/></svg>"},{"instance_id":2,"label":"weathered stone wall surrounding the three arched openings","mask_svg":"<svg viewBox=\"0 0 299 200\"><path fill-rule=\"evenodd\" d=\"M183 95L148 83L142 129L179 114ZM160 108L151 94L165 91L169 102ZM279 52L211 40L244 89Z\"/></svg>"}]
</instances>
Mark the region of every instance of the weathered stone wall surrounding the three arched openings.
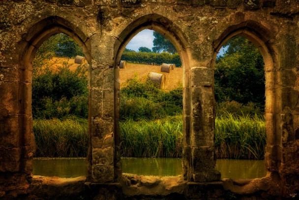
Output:
<instances>
[{"instance_id":1,"label":"weathered stone wall surrounding the three arched openings","mask_svg":"<svg viewBox=\"0 0 299 200\"><path fill-rule=\"evenodd\" d=\"M0 13L0 198L51 199L58 193L61 198L95 199L299 195L298 0L2 0ZM180 177L121 174L117 66L125 45L143 29L164 34L182 60ZM73 37L89 63L86 179L31 175L31 63L38 47L55 33ZM235 35L256 44L266 64L269 172L245 182L220 180L214 169L215 58Z\"/></svg>"}]
</instances>

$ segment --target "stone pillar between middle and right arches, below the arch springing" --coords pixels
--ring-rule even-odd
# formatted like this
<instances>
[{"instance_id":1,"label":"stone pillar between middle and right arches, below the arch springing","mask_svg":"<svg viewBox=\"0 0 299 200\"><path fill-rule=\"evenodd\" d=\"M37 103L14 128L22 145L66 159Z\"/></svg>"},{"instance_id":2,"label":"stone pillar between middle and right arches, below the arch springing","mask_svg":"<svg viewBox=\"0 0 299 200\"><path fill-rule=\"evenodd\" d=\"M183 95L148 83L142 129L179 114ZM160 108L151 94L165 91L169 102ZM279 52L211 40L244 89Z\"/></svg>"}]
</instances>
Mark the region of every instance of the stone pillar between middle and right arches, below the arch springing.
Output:
<instances>
[{"instance_id":1,"label":"stone pillar between middle and right arches, below the arch springing","mask_svg":"<svg viewBox=\"0 0 299 200\"><path fill-rule=\"evenodd\" d=\"M220 173L215 168L214 92L211 68L191 67L191 158L195 182L215 181Z\"/></svg>"}]
</instances>

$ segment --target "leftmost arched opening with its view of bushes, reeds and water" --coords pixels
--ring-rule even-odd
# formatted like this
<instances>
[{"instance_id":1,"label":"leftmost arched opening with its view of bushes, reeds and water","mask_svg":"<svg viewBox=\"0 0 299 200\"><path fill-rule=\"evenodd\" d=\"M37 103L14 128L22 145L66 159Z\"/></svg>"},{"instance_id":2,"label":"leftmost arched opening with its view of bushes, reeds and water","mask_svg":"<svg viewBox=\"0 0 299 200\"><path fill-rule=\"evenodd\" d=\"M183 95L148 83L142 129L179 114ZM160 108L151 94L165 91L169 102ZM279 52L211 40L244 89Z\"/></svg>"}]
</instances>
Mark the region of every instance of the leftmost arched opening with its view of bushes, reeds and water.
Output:
<instances>
[{"instance_id":1,"label":"leftmost arched opening with its view of bushes, reeds and water","mask_svg":"<svg viewBox=\"0 0 299 200\"><path fill-rule=\"evenodd\" d=\"M33 175L86 175L88 66L64 33L49 37L32 61Z\"/></svg>"}]
</instances>

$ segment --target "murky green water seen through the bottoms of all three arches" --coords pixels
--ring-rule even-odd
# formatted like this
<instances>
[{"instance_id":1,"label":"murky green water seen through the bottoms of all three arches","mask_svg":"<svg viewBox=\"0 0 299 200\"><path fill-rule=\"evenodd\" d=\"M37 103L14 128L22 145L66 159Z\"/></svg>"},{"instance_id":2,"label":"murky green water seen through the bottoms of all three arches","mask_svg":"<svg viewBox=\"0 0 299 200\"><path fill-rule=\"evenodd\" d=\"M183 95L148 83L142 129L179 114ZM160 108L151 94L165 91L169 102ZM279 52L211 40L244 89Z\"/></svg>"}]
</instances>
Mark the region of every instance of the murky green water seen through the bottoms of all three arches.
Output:
<instances>
[{"instance_id":1,"label":"murky green water seen through the bottoms of all three arches","mask_svg":"<svg viewBox=\"0 0 299 200\"><path fill-rule=\"evenodd\" d=\"M177 158L121 158L122 172L139 175L177 176L181 174L181 159ZM266 176L261 160L218 159L216 167L221 178L252 179ZM34 159L33 175L71 178L87 174L85 159Z\"/></svg>"}]
</instances>

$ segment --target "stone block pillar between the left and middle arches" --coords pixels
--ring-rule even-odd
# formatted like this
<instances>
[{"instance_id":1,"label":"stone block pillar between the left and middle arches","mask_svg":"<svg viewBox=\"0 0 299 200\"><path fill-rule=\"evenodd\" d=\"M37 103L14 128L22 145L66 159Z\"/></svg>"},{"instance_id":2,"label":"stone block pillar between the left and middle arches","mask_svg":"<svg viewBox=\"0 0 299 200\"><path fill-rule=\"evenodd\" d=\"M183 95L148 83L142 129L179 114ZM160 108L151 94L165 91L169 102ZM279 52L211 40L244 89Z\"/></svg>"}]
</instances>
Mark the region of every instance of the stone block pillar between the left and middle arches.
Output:
<instances>
[{"instance_id":1,"label":"stone block pillar between the left and middle arches","mask_svg":"<svg viewBox=\"0 0 299 200\"><path fill-rule=\"evenodd\" d=\"M112 38L99 38L92 41L92 64L90 67L90 134L91 181L96 183L113 182L115 158L115 104L114 68L111 45Z\"/></svg>"}]
</instances>

